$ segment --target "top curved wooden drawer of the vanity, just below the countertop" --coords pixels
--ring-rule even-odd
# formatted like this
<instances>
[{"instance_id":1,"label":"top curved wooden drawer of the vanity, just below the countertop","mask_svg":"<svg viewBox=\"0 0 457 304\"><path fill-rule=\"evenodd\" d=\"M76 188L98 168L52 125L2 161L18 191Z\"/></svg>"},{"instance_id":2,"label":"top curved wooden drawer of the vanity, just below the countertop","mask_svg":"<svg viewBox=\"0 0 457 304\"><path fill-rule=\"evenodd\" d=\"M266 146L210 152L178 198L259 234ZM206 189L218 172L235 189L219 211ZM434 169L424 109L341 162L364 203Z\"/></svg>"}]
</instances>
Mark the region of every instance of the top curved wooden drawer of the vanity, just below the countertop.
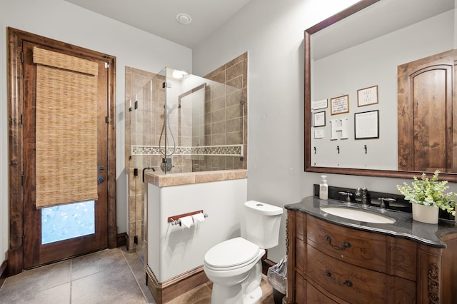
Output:
<instances>
[{"instance_id":1,"label":"top curved wooden drawer of the vanity, just below the countertop","mask_svg":"<svg viewBox=\"0 0 457 304\"><path fill-rule=\"evenodd\" d=\"M391 258L384 235L336 226L308 216L307 238L308 243L333 258L387 272L386 263Z\"/></svg>"}]
</instances>

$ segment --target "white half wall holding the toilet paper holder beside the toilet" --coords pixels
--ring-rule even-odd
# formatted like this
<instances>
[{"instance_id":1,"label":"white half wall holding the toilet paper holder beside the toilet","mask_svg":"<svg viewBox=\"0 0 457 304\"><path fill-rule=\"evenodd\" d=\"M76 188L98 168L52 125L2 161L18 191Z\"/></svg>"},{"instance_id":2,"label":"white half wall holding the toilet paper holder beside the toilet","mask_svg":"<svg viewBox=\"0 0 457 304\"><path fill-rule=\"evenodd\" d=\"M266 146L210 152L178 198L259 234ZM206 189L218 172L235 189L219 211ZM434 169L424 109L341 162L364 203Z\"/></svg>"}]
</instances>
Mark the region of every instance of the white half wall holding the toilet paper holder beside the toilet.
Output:
<instances>
[{"instance_id":1,"label":"white half wall holding the toilet paper holder beside the toilet","mask_svg":"<svg viewBox=\"0 0 457 304\"><path fill-rule=\"evenodd\" d=\"M159 282L203 265L209 248L244 234L246 188L246 178L161 188L148 183L147 263ZM167 221L199 210L208 218L197 226Z\"/></svg>"}]
</instances>

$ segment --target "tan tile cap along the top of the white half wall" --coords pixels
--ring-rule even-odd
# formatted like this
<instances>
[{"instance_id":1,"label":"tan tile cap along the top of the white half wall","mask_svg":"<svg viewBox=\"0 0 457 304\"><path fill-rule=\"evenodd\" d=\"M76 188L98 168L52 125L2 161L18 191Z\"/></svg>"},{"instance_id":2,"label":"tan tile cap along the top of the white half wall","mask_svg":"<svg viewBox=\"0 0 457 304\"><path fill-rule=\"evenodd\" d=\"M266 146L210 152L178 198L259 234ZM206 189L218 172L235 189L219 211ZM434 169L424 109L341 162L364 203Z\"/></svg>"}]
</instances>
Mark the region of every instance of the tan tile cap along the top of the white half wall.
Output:
<instances>
[{"instance_id":1,"label":"tan tile cap along the top of the white half wall","mask_svg":"<svg viewBox=\"0 0 457 304\"><path fill-rule=\"evenodd\" d=\"M169 187L190 185L193 183L209 183L212 181L229 181L247 177L248 171L245 169L172 174L146 172L144 175L144 181L157 187Z\"/></svg>"}]
</instances>

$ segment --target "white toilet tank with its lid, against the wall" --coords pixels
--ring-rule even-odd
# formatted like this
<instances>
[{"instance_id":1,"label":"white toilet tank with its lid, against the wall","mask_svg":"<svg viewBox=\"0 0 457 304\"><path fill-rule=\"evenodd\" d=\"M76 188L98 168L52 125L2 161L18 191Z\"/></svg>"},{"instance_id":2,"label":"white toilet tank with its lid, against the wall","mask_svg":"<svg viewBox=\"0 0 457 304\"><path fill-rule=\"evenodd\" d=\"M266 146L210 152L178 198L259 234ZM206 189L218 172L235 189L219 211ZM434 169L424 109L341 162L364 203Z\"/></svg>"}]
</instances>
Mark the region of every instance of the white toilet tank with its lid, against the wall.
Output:
<instances>
[{"instance_id":1,"label":"white toilet tank with its lid, against the wall","mask_svg":"<svg viewBox=\"0 0 457 304\"><path fill-rule=\"evenodd\" d=\"M278 245L283 208L258 201L244 203L246 239L263 249Z\"/></svg>"}]
</instances>

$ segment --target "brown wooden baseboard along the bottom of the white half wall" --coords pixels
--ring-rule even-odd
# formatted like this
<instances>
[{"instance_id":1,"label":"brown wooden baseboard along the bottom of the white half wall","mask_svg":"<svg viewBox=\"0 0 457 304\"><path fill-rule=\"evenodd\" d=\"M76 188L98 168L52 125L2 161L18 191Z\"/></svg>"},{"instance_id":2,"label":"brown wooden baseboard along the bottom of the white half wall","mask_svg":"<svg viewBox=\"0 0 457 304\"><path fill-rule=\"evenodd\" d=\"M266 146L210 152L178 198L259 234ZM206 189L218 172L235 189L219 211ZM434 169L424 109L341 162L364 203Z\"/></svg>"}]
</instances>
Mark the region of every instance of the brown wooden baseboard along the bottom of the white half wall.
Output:
<instances>
[{"instance_id":1,"label":"brown wooden baseboard along the bottom of the white half wall","mask_svg":"<svg viewBox=\"0 0 457 304\"><path fill-rule=\"evenodd\" d=\"M159 282L152 270L146 267L146 285L151 290L157 304L169 302L208 281L209 279L204 273L203 266L189 270L164 282Z\"/></svg>"}]
</instances>

